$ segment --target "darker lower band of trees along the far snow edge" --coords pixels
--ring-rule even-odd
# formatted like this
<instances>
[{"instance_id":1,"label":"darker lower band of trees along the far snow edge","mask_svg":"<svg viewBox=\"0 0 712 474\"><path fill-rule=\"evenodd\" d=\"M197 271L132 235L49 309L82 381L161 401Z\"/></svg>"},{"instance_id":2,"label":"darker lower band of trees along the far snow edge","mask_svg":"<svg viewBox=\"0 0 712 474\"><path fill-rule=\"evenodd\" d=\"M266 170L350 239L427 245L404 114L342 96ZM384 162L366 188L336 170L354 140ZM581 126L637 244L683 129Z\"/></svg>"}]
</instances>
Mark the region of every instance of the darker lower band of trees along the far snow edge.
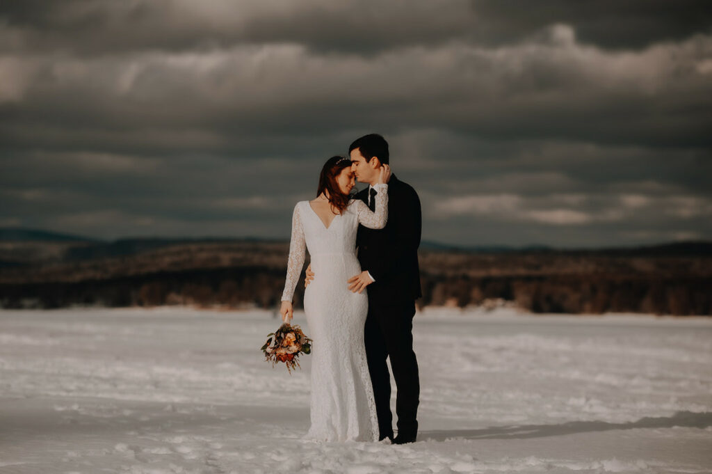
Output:
<instances>
[{"instance_id":1,"label":"darker lower band of trees along the far snow edge","mask_svg":"<svg viewBox=\"0 0 712 474\"><path fill-rule=\"evenodd\" d=\"M422 277L419 306L473 306L503 299L535 313L641 312L712 314L712 284L703 279L610 277ZM204 269L81 282L0 284L4 308L53 309L73 305L275 308L282 272L263 268ZM295 304L303 299L303 282Z\"/></svg>"}]
</instances>

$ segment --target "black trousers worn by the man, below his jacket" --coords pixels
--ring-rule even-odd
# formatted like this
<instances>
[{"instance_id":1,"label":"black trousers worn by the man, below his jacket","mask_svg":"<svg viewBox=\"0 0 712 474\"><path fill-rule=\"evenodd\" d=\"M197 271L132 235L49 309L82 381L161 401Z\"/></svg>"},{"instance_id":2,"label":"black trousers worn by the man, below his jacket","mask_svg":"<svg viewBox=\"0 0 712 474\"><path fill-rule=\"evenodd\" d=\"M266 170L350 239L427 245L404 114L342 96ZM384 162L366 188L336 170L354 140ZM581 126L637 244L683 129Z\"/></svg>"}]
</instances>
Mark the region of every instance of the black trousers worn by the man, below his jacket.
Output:
<instances>
[{"instance_id":1,"label":"black trousers worn by the man, below his jacket","mask_svg":"<svg viewBox=\"0 0 712 474\"><path fill-rule=\"evenodd\" d=\"M398 432L411 436L418 431L416 416L420 381L418 362L413 351L413 316L415 302L382 304L369 300L365 346L381 436L393 436L391 379L387 357L391 360L396 382Z\"/></svg>"}]
</instances>

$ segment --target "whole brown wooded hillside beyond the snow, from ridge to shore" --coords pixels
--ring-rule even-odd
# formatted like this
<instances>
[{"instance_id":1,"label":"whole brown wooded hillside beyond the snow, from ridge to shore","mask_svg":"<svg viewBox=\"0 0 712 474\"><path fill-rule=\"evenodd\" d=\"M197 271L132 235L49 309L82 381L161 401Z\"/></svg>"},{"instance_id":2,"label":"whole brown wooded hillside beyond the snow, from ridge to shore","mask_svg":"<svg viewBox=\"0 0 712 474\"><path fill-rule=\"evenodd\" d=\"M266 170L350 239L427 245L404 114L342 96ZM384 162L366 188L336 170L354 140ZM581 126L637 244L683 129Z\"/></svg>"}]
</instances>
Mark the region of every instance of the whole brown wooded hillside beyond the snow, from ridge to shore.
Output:
<instances>
[{"instance_id":1,"label":"whole brown wooded hillside beyond the snow, from ridge to shore","mask_svg":"<svg viewBox=\"0 0 712 474\"><path fill-rule=\"evenodd\" d=\"M276 242L177 244L123 257L5 268L0 306L276 308L287 250ZM417 304L486 306L501 299L535 313L712 314L708 251L424 250ZM303 291L300 281L297 306Z\"/></svg>"}]
</instances>

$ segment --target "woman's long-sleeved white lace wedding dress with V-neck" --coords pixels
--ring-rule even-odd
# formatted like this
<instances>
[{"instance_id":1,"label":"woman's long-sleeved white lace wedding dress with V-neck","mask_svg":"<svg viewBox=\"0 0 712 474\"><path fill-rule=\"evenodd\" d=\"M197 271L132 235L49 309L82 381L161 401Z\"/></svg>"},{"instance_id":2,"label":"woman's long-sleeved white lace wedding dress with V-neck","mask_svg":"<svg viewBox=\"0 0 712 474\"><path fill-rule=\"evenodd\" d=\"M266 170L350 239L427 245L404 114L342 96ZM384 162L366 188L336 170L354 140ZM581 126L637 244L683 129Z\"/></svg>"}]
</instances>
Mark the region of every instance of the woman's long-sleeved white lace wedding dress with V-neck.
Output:
<instances>
[{"instance_id":1,"label":"woman's long-sleeved white lace wedding dress with V-neck","mask_svg":"<svg viewBox=\"0 0 712 474\"><path fill-rule=\"evenodd\" d=\"M350 292L347 279L361 272L356 258L359 223L385 226L388 185L375 185L376 208L351 200L345 212L326 227L309 201L294 207L287 280L283 301L292 301L305 260L305 247L315 273L304 294L304 311L313 339L311 426L304 439L377 441L378 420L364 346L367 289Z\"/></svg>"}]
</instances>

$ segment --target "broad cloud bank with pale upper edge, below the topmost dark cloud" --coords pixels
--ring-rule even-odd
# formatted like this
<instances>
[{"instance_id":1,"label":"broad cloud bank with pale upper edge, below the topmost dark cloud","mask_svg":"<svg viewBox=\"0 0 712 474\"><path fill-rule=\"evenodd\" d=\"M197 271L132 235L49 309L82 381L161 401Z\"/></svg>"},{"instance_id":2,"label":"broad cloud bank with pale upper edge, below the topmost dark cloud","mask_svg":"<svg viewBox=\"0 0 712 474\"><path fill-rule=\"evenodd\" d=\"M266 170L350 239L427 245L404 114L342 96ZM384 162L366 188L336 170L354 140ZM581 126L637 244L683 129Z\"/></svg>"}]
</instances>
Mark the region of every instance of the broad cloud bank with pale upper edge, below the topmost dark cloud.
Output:
<instances>
[{"instance_id":1,"label":"broad cloud bank with pale upper edge, below the topmost dark cloud","mask_svg":"<svg viewBox=\"0 0 712 474\"><path fill-rule=\"evenodd\" d=\"M707 147L710 56L712 36L618 53L581 45L564 25L512 46L407 48L372 58L292 44L8 56L0 63L7 79L0 116L11 120L0 138L90 146L95 137L156 148L175 138L223 149L244 135L261 148L256 136L326 136L369 123L498 139Z\"/></svg>"}]
</instances>

